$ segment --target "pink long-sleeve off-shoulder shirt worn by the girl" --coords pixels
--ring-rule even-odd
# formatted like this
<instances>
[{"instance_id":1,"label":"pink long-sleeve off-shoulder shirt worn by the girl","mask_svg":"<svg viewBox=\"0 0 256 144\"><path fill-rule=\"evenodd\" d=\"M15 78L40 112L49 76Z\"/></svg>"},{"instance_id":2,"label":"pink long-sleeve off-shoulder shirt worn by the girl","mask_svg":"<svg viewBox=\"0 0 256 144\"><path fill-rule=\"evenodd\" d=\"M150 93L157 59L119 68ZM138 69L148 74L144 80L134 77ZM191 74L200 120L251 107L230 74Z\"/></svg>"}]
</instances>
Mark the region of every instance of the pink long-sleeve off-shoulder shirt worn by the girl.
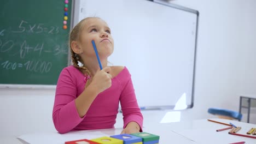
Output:
<instances>
[{"instance_id":1,"label":"pink long-sleeve off-shoulder shirt worn by the girl","mask_svg":"<svg viewBox=\"0 0 256 144\"><path fill-rule=\"evenodd\" d=\"M143 116L138 107L131 75L125 67L112 79L112 86L97 95L86 115L79 117L74 100L84 91L85 76L73 65L64 68L57 81L53 122L59 133L73 130L114 128L119 101L124 128L133 121L142 130Z\"/></svg>"}]
</instances>

